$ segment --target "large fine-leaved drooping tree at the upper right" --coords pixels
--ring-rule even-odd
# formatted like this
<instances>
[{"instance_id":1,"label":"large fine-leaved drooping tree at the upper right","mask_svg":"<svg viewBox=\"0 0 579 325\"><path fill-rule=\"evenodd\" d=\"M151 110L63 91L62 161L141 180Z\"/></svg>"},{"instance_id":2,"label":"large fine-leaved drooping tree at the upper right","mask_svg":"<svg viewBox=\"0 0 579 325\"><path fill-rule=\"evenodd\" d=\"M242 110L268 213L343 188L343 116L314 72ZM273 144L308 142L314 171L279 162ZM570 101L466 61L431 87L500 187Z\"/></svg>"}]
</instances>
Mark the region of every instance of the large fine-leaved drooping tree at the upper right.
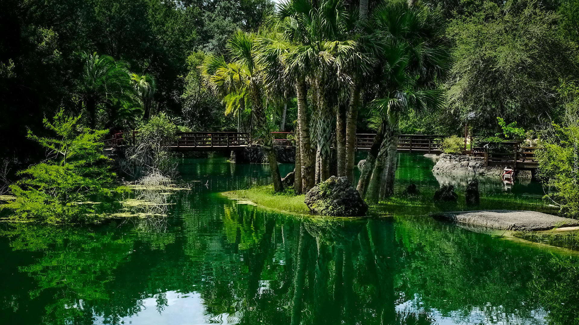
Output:
<instances>
[{"instance_id":1,"label":"large fine-leaved drooping tree at the upper right","mask_svg":"<svg viewBox=\"0 0 579 325\"><path fill-rule=\"evenodd\" d=\"M449 109L476 113L481 127L496 116L536 124L554 109L559 79L576 71L569 42L554 28L558 15L526 0L477 3L447 29L455 59Z\"/></svg>"}]
</instances>

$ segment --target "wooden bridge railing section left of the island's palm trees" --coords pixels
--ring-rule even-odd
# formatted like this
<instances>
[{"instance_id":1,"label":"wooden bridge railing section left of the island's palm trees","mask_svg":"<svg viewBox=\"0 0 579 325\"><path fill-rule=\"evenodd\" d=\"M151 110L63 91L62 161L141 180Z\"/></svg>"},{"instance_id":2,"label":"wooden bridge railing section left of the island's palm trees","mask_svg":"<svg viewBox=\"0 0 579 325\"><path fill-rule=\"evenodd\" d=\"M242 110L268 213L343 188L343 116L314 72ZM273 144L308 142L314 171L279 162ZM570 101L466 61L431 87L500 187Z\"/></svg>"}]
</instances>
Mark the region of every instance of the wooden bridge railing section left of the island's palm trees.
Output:
<instances>
[{"instance_id":1,"label":"wooden bridge railing section left of the island's palm trees","mask_svg":"<svg viewBox=\"0 0 579 325\"><path fill-rule=\"evenodd\" d=\"M239 147L248 144L245 132L177 132L172 147Z\"/></svg>"}]
</instances>

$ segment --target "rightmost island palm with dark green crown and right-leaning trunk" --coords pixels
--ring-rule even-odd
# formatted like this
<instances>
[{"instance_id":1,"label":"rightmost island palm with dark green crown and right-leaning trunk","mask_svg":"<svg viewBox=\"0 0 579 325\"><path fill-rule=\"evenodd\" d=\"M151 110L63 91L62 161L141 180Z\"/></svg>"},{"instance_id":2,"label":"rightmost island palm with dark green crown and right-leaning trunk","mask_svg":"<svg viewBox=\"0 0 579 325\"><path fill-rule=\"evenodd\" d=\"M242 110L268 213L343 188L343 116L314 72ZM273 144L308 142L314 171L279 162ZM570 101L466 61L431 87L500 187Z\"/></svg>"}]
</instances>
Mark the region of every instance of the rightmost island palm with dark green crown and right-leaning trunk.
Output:
<instances>
[{"instance_id":1,"label":"rightmost island palm with dark green crown and right-leaning trunk","mask_svg":"<svg viewBox=\"0 0 579 325\"><path fill-rule=\"evenodd\" d=\"M444 95L435 88L435 81L443 78L450 65L449 48L442 35L442 20L407 3L387 4L372 14L373 24L385 42L380 54L381 67L374 73L376 95L373 106L382 119L377 139L368 153L358 182L362 196L368 189L372 174L372 193L369 199L378 200L389 195L393 186L395 148L400 115L414 109L425 112L439 108ZM375 143L376 144L376 141ZM380 164L374 164L376 158ZM368 163L371 162L371 163Z\"/></svg>"}]
</instances>

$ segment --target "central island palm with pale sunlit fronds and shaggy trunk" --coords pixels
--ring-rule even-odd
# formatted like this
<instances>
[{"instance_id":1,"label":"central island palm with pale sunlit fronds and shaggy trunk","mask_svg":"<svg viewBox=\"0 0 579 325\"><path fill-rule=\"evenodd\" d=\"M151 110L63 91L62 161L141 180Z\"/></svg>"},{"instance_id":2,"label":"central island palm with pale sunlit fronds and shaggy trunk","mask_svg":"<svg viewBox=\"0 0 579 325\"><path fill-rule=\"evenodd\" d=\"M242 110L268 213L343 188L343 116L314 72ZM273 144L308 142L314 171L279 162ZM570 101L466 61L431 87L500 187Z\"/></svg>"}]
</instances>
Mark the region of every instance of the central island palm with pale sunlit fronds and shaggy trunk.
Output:
<instances>
[{"instance_id":1,"label":"central island palm with pale sunlit fronds and shaggy trunk","mask_svg":"<svg viewBox=\"0 0 579 325\"><path fill-rule=\"evenodd\" d=\"M278 17L286 22L284 33L292 43L284 53L284 64L291 75L297 76L296 87L302 87L296 89L298 114L299 95L305 90L306 78L314 88L313 93L316 94L313 98L316 107L319 157L319 163L316 164L316 178L323 181L329 177L332 134L332 113L329 106L331 92L328 91L330 80L335 79L341 58L347 56L356 42L347 39L348 14L341 0L323 0L315 3L308 0L292 0L281 6ZM304 124L301 123L301 130L303 127ZM302 165L305 167L306 164L307 162L302 159Z\"/></svg>"}]
</instances>

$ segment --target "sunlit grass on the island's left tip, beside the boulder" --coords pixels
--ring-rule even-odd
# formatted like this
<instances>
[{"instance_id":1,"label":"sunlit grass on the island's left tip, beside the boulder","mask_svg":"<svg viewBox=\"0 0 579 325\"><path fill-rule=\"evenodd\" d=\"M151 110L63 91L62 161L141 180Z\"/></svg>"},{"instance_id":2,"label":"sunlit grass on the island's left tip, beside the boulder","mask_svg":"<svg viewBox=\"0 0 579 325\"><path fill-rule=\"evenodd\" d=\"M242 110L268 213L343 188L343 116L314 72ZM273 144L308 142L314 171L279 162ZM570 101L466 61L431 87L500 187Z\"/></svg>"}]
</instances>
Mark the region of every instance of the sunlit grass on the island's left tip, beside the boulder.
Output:
<instances>
[{"instance_id":1,"label":"sunlit grass on the island's left tip, beside the boulder","mask_svg":"<svg viewBox=\"0 0 579 325\"><path fill-rule=\"evenodd\" d=\"M293 189L286 189L274 193L273 185L256 186L247 190L237 190L223 193L228 197L254 202L266 208L284 210L296 213L310 213L310 209L303 202L306 195L295 195Z\"/></svg>"}]
</instances>

